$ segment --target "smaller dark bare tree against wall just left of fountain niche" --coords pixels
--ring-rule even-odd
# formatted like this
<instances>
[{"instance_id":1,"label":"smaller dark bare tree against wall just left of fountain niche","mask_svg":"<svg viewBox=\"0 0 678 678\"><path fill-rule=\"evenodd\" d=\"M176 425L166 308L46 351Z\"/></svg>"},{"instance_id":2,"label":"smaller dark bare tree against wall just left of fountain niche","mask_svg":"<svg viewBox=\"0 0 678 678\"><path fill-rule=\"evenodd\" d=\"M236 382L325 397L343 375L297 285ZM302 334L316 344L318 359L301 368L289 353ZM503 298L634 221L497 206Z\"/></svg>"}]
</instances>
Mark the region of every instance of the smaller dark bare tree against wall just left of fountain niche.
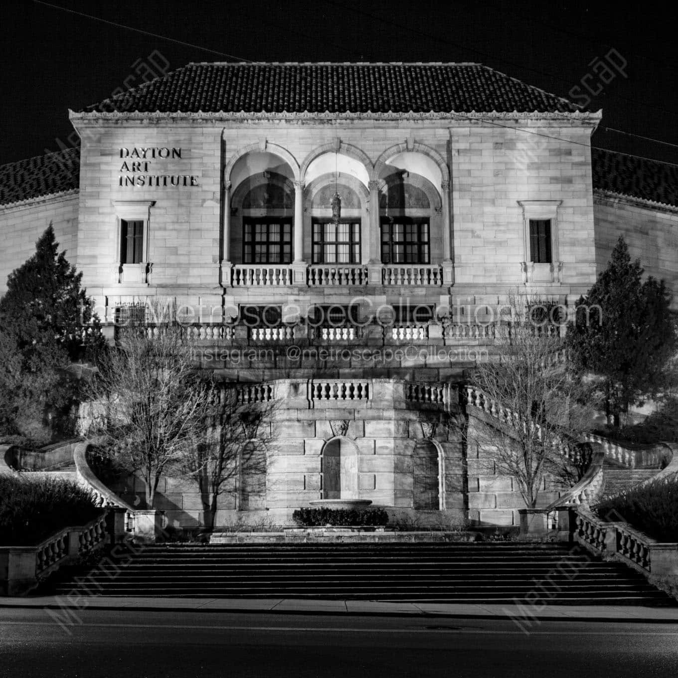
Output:
<instances>
[{"instance_id":1,"label":"smaller dark bare tree against wall just left of fountain niche","mask_svg":"<svg viewBox=\"0 0 678 678\"><path fill-rule=\"evenodd\" d=\"M198 483L205 527L215 526L219 498L232 493L236 509L263 508L266 451L274 411L266 384L213 384L204 435L184 458Z\"/></svg>"}]
</instances>

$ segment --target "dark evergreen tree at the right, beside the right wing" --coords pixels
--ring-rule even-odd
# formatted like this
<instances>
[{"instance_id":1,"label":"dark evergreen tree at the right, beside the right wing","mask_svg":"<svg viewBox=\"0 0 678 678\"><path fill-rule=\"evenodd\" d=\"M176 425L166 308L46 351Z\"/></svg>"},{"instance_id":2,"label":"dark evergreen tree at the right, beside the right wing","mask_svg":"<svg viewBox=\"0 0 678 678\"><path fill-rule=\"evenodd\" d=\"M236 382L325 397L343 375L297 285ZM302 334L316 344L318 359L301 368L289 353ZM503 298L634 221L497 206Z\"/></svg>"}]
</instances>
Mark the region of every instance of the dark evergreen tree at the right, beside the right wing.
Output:
<instances>
[{"instance_id":1,"label":"dark evergreen tree at the right, beside the right wing","mask_svg":"<svg viewBox=\"0 0 678 678\"><path fill-rule=\"evenodd\" d=\"M677 345L664 281L643 282L642 275L640 261L631 261L620 237L567 328L572 359L581 372L601 379L605 414L615 426L629 405L666 384L666 365Z\"/></svg>"}]
</instances>

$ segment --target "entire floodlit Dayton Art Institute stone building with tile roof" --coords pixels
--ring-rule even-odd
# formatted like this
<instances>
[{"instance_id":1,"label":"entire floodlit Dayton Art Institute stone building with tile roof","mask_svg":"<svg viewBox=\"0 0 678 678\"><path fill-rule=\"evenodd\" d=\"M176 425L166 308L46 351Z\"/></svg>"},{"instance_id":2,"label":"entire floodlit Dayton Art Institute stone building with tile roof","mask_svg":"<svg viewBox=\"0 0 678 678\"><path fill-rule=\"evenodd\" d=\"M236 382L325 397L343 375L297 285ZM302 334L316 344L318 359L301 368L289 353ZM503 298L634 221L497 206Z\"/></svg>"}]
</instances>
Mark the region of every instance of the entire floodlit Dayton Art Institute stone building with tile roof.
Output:
<instances>
[{"instance_id":1,"label":"entire floodlit Dayton Art Institute stone building with tile roof","mask_svg":"<svg viewBox=\"0 0 678 678\"><path fill-rule=\"evenodd\" d=\"M0 168L0 284L51 221L107 327L184 309L205 368L282 403L252 513L468 515L457 384L509 291L571 306L620 233L677 283L673 197L595 184L601 113L478 64L189 64L69 115L79 154Z\"/></svg>"}]
</instances>

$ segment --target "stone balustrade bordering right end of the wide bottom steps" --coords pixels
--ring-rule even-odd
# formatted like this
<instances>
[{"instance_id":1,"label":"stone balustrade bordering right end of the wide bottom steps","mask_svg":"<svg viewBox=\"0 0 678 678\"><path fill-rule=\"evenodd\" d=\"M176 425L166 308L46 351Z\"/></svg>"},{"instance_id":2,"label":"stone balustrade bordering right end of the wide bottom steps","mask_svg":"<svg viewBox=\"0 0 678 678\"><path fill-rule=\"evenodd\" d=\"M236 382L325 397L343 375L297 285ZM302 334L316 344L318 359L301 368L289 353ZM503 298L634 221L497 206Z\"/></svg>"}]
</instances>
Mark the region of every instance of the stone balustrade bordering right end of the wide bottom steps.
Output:
<instances>
[{"instance_id":1,"label":"stone balustrade bordering right end of the wide bottom steps","mask_svg":"<svg viewBox=\"0 0 678 678\"><path fill-rule=\"evenodd\" d=\"M678 576L678 544L657 542L623 522L606 522L586 509L575 515L575 540L595 555L611 557L645 576Z\"/></svg>"}]
</instances>

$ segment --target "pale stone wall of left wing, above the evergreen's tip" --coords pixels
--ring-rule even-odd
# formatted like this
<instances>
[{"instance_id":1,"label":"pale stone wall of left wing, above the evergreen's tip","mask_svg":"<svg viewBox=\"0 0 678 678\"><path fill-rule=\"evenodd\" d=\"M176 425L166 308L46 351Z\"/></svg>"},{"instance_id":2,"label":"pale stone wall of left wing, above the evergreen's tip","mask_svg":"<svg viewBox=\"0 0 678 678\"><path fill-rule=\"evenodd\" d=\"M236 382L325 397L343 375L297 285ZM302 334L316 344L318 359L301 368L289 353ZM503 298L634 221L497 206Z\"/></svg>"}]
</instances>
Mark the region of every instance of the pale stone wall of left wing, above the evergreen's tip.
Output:
<instances>
[{"instance_id":1,"label":"pale stone wall of left wing, above the evergreen's tip","mask_svg":"<svg viewBox=\"0 0 678 678\"><path fill-rule=\"evenodd\" d=\"M52 222L59 251L77 264L78 195L31 200L0 207L0 295L7 276L35 253L35 243Z\"/></svg>"}]
</instances>

